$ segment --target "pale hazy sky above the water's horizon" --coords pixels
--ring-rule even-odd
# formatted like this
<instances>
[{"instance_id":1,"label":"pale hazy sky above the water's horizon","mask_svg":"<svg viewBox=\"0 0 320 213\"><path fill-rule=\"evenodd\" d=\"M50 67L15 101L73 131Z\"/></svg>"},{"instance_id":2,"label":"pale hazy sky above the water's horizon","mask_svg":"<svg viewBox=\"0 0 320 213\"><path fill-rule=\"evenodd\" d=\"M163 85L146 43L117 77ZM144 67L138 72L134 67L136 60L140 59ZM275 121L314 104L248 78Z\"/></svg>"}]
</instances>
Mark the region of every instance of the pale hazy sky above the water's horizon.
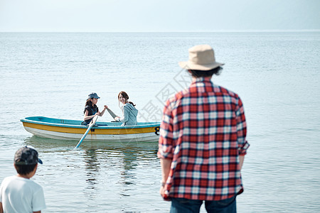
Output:
<instances>
[{"instance_id":1,"label":"pale hazy sky above the water's horizon","mask_svg":"<svg viewBox=\"0 0 320 213\"><path fill-rule=\"evenodd\" d=\"M320 0L0 0L0 32L319 29Z\"/></svg>"}]
</instances>

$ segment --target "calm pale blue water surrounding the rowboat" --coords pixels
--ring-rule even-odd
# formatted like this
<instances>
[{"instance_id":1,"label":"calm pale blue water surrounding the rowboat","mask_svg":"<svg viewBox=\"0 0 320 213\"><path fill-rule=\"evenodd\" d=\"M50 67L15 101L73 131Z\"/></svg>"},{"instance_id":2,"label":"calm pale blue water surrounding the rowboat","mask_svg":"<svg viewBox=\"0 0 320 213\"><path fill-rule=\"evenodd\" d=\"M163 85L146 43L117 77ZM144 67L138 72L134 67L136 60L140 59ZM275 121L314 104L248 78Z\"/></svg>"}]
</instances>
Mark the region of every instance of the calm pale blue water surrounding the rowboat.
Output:
<instances>
[{"instance_id":1,"label":"calm pale blue water surrounding the rowboat","mask_svg":"<svg viewBox=\"0 0 320 213\"><path fill-rule=\"evenodd\" d=\"M245 104L250 149L238 212L320 211L320 33L0 33L0 181L17 148L38 149L43 212L169 212L159 195L157 143L59 141L32 136L19 119L82 119L87 94L120 114L126 91L140 121L189 84L177 62L208 43L213 82ZM100 121L110 121L110 115ZM201 209L204 212L204 209Z\"/></svg>"}]
</instances>

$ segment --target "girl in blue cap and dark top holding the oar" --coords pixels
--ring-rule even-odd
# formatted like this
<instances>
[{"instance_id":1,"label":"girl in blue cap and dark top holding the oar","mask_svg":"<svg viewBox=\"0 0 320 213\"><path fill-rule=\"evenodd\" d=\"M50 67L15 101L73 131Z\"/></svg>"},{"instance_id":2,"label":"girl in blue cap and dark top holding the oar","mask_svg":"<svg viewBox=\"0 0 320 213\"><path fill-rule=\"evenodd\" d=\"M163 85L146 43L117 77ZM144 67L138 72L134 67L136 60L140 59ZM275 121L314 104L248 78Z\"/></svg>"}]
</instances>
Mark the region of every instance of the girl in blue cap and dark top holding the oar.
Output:
<instances>
[{"instance_id":1,"label":"girl in blue cap and dark top holding the oar","mask_svg":"<svg viewBox=\"0 0 320 213\"><path fill-rule=\"evenodd\" d=\"M100 97L97 96L97 93L92 92L87 96L87 101L85 102L85 111L83 113L85 116L83 117L82 125L87 126L90 124L90 121L93 119L95 115L102 116L105 114L105 109L107 109L107 105L105 105L104 109L100 112L97 107L97 99Z\"/></svg>"}]
</instances>

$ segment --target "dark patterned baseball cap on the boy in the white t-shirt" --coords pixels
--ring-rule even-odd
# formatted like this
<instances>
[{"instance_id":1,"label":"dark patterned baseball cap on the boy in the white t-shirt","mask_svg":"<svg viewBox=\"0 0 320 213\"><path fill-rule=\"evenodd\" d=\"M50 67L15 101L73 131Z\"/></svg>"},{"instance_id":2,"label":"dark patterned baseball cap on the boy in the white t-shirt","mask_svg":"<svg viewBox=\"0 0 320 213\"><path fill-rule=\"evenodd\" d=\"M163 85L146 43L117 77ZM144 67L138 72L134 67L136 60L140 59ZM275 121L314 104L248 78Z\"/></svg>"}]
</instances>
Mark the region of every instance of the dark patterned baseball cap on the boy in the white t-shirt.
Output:
<instances>
[{"instance_id":1,"label":"dark patterned baseball cap on the boy in the white t-shirt","mask_svg":"<svg viewBox=\"0 0 320 213\"><path fill-rule=\"evenodd\" d=\"M14 164L16 165L34 165L37 163L42 164L42 160L38 158L38 152L31 146L19 148L14 155Z\"/></svg>"}]
</instances>

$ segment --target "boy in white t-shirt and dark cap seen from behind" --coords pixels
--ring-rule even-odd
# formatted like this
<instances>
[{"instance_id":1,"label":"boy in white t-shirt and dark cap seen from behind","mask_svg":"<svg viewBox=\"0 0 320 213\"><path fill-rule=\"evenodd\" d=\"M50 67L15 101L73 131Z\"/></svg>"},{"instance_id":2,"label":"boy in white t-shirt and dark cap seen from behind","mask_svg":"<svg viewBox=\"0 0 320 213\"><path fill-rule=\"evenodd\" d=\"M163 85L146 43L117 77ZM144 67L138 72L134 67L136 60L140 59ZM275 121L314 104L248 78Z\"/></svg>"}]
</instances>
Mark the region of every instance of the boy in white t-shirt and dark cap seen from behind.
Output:
<instances>
[{"instance_id":1,"label":"boy in white t-shirt and dark cap seen from behind","mask_svg":"<svg viewBox=\"0 0 320 213\"><path fill-rule=\"evenodd\" d=\"M30 146L19 148L14 155L18 175L4 178L0 187L0 213L39 213L46 209L41 185L30 178L36 173L38 152Z\"/></svg>"}]
</instances>

